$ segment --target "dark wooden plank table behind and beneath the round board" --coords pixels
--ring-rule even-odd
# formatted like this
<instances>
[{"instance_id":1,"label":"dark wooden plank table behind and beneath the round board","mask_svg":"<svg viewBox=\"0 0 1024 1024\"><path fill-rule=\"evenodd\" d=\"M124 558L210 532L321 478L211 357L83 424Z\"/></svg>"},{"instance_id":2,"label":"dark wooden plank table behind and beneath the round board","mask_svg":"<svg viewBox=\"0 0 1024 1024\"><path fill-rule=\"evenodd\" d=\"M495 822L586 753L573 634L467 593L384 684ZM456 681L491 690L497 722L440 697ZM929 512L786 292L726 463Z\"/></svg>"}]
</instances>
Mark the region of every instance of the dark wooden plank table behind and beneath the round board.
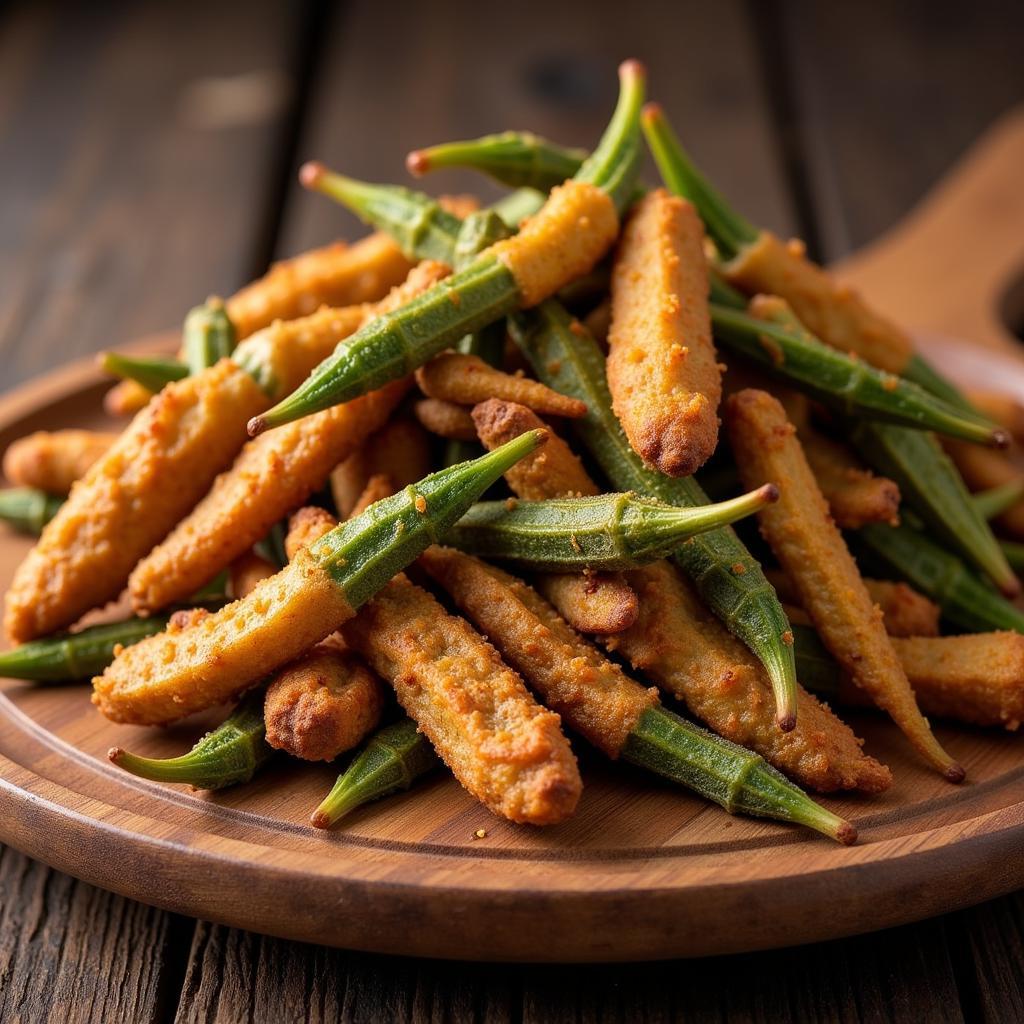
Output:
<instances>
[{"instance_id":1,"label":"dark wooden plank table behind and beneath the round board","mask_svg":"<svg viewBox=\"0 0 1024 1024\"><path fill-rule=\"evenodd\" d=\"M414 144L503 127L592 142L623 56L647 62L752 219L828 260L897 220L1024 92L1010 2L572 6L0 8L0 386L353 236L295 184L305 158L387 180ZM1019 894L758 955L474 966L196 923L0 848L3 1021L1009 1021L1024 1019L1022 963Z\"/></svg>"}]
</instances>

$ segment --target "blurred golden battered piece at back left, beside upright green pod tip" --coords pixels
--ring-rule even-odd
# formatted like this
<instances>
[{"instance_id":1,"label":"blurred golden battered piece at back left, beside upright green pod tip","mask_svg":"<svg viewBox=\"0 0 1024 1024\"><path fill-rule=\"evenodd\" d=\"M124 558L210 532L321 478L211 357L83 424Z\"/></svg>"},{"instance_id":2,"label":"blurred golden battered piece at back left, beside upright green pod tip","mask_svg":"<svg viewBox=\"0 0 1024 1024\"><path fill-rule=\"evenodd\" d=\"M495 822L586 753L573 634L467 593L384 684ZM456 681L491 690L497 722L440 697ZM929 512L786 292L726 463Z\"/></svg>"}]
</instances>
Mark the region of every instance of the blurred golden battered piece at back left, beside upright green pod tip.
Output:
<instances>
[{"instance_id":1,"label":"blurred golden battered piece at back left, beside upright green pod tip","mask_svg":"<svg viewBox=\"0 0 1024 1024\"><path fill-rule=\"evenodd\" d=\"M354 245L335 242L274 263L225 303L239 338L274 321L307 316L322 305L377 302L399 284L412 263L382 231Z\"/></svg>"}]
</instances>

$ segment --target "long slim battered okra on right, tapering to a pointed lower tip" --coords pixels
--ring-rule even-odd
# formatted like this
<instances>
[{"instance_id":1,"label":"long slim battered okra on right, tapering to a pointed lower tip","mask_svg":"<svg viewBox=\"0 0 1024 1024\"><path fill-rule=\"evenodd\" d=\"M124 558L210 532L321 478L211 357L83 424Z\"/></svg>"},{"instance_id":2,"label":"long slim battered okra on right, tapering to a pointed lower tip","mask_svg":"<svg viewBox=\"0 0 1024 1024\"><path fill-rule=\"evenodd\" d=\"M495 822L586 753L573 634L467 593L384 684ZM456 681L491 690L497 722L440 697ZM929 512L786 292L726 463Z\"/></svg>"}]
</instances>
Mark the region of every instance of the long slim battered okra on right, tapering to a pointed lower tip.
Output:
<instances>
[{"instance_id":1,"label":"long slim battered okra on right, tapering to a pointed lower tip","mask_svg":"<svg viewBox=\"0 0 1024 1024\"><path fill-rule=\"evenodd\" d=\"M918 708L882 613L828 514L782 407L765 391L740 391L726 401L725 422L744 485L768 480L778 485L778 502L758 513L761 532L822 642L926 761L949 781L963 781L964 769L942 750Z\"/></svg>"}]
</instances>

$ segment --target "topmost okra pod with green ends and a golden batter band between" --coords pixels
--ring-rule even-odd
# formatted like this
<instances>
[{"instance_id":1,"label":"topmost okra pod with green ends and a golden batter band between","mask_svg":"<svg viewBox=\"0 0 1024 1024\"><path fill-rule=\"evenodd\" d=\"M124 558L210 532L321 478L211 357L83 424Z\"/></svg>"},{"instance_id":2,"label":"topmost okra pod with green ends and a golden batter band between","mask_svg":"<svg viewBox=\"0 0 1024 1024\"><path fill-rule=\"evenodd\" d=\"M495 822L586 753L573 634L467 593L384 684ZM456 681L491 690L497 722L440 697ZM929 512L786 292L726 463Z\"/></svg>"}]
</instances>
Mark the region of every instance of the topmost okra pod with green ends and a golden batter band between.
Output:
<instances>
[{"instance_id":1,"label":"topmost okra pod with green ends and a golden batter band between","mask_svg":"<svg viewBox=\"0 0 1024 1024\"><path fill-rule=\"evenodd\" d=\"M618 104L592 157L523 229L485 250L403 308L377 317L288 398L253 417L255 435L402 377L460 338L529 307L590 270L618 230L639 161L644 75L623 65Z\"/></svg>"}]
</instances>

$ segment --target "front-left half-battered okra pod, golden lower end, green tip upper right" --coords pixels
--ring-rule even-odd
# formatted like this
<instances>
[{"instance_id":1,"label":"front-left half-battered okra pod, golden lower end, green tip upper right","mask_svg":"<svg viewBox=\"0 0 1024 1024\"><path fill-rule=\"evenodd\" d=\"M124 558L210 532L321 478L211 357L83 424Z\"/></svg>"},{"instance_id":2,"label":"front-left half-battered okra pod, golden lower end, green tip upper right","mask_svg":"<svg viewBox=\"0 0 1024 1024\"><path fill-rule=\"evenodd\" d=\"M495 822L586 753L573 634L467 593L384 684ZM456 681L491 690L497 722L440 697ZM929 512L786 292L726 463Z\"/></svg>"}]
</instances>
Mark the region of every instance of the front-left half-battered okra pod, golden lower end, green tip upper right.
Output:
<instances>
[{"instance_id":1,"label":"front-left half-battered okra pod, golden lower end, green tip upper right","mask_svg":"<svg viewBox=\"0 0 1024 1024\"><path fill-rule=\"evenodd\" d=\"M231 699L337 630L543 439L522 434L371 505L248 597L126 648L93 680L94 702L114 721L160 724Z\"/></svg>"}]
</instances>

